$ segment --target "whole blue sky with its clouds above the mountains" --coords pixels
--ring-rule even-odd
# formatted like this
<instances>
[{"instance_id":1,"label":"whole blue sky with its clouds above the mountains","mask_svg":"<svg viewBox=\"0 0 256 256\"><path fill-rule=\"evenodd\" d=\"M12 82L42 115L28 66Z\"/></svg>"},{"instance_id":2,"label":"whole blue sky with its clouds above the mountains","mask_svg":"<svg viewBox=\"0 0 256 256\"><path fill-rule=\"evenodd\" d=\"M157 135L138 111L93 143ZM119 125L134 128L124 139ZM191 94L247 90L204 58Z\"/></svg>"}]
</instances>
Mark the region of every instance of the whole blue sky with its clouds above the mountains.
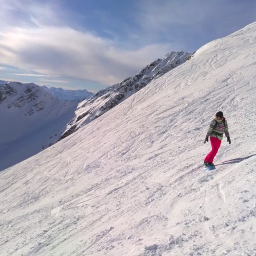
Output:
<instances>
[{"instance_id":1,"label":"whole blue sky with its clouds above the mountains","mask_svg":"<svg viewBox=\"0 0 256 256\"><path fill-rule=\"evenodd\" d=\"M0 0L0 80L96 92L256 21L254 0Z\"/></svg>"}]
</instances>

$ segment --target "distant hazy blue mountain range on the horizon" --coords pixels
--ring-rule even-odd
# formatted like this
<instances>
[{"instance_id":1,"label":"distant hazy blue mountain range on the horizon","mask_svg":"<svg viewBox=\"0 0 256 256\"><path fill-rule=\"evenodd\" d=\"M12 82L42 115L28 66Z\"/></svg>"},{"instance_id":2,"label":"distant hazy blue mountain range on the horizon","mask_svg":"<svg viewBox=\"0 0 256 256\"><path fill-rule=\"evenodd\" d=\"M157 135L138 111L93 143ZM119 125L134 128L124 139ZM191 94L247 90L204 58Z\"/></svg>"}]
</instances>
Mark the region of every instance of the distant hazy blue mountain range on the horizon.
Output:
<instances>
[{"instance_id":1,"label":"distant hazy blue mountain range on the horizon","mask_svg":"<svg viewBox=\"0 0 256 256\"><path fill-rule=\"evenodd\" d=\"M42 86L45 90L55 95L57 98L65 99L69 101L79 102L84 99L90 98L94 93L83 90L64 90L62 88Z\"/></svg>"}]
</instances>

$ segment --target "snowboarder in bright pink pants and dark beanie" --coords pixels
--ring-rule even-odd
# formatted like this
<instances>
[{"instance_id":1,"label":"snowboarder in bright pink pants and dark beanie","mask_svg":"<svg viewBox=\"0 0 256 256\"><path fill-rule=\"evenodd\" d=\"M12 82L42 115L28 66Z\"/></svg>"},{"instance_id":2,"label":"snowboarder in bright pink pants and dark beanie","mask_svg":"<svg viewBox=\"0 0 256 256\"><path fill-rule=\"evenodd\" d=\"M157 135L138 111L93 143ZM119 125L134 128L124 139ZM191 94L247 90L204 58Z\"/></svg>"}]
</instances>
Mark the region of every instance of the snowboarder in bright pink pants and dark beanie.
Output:
<instances>
[{"instance_id":1,"label":"snowboarder in bright pink pants and dark beanie","mask_svg":"<svg viewBox=\"0 0 256 256\"><path fill-rule=\"evenodd\" d=\"M204 143L208 142L208 138L210 137L211 142L211 151L204 159L205 167L214 168L213 159L216 156L221 140L223 138L223 133L227 138L227 142L231 144L230 137L228 134L227 121L225 117L223 117L223 112L219 111L215 115L215 119L213 119L210 123L208 133L205 137Z\"/></svg>"}]
</instances>

